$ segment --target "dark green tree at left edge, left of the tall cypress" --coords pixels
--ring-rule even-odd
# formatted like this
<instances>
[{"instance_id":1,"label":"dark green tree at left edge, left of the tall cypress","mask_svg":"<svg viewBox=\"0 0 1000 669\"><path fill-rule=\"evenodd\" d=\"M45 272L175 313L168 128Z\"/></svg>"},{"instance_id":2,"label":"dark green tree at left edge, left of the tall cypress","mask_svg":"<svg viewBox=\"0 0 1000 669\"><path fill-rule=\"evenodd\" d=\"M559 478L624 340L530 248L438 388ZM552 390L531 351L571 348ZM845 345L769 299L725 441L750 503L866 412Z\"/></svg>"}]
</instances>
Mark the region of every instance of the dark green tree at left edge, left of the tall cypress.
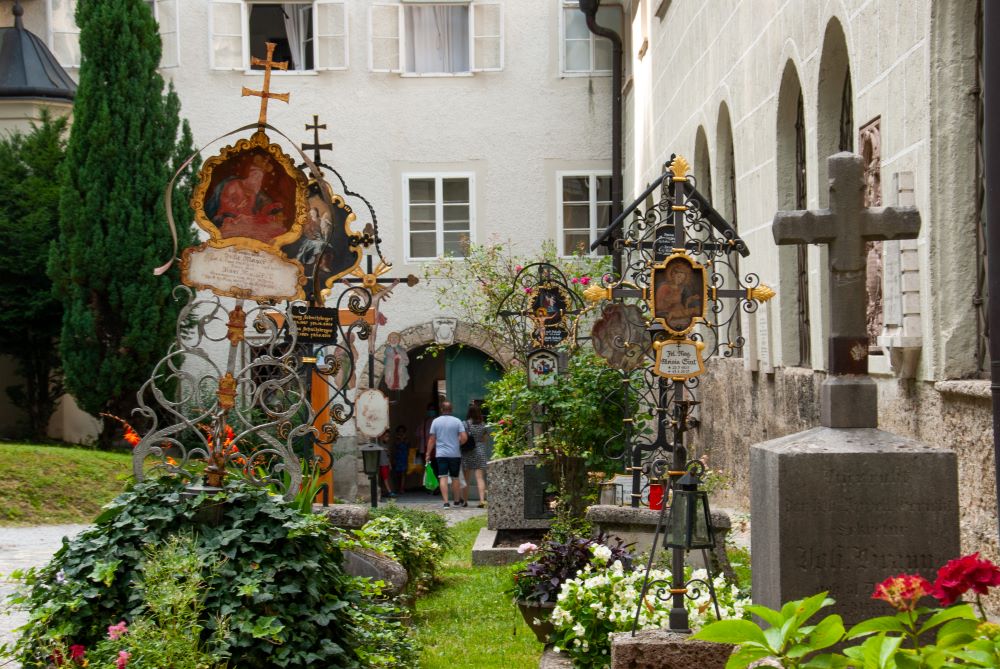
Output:
<instances>
[{"instance_id":1,"label":"dark green tree at left edge, left of the tall cypress","mask_svg":"<svg viewBox=\"0 0 1000 669\"><path fill-rule=\"evenodd\" d=\"M59 229L59 167L65 117L43 111L28 134L0 139L0 353L16 363L19 383L5 390L24 411L24 434L45 437L62 393L57 349L62 305L45 272Z\"/></svg>"}]
</instances>

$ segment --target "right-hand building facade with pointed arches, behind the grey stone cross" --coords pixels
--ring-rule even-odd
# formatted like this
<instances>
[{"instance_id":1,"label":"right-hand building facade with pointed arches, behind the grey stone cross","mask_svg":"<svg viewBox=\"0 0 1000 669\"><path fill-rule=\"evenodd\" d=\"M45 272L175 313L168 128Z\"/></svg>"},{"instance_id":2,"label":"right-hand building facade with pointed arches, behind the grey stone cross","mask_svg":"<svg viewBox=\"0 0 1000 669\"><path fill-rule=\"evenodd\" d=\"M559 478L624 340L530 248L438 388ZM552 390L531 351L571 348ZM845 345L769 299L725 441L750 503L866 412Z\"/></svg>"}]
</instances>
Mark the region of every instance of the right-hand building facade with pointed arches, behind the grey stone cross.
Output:
<instances>
[{"instance_id":1,"label":"right-hand building facade with pointed arches, behind the grey stone cross","mask_svg":"<svg viewBox=\"0 0 1000 669\"><path fill-rule=\"evenodd\" d=\"M996 555L986 372L979 0L635 0L626 192L671 153L733 221L777 297L710 364L696 448L749 508L751 444L819 422L829 331L826 249L778 247L776 211L828 203L826 159L866 165L868 206L914 205L914 241L868 252L880 427L958 453L963 550ZM626 197L626 200L630 198ZM927 491L929 496L934 491Z\"/></svg>"}]
</instances>

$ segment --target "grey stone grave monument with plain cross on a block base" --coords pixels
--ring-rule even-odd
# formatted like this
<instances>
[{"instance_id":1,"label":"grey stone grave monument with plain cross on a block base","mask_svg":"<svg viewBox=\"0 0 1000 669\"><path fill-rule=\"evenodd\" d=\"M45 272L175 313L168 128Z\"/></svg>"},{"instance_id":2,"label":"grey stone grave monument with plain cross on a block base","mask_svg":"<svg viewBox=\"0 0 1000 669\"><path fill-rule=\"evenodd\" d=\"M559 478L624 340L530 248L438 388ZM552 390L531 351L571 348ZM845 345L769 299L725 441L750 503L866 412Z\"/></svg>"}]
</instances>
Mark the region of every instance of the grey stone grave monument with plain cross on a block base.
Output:
<instances>
[{"instance_id":1,"label":"grey stone grave monument with plain cross on a block base","mask_svg":"<svg viewBox=\"0 0 1000 669\"><path fill-rule=\"evenodd\" d=\"M827 244L829 376L820 427L750 449L753 600L779 608L829 591L850 625L889 611L875 584L901 572L932 578L959 555L953 451L878 429L868 376L865 243L912 239L915 208L865 208L860 156L831 156L830 208L779 212L777 244Z\"/></svg>"}]
</instances>

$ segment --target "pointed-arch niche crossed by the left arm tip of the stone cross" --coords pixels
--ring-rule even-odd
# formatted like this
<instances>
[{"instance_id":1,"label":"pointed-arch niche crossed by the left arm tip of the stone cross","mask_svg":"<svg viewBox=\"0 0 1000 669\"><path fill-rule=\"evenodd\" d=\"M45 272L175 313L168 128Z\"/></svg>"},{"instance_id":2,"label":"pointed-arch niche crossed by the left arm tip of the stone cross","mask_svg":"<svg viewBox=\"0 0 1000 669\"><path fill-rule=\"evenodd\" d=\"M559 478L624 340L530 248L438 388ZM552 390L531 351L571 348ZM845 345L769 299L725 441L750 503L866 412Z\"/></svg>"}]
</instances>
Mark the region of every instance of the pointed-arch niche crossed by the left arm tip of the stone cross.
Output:
<instances>
[{"instance_id":1,"label":"pointed-arch niche crossed by the left arm tip of the stone cross","mask_svg":"<svg viewBox=\"0 0 1000 669\"><path fill-rule=\"evenodd\" d=\"M805 102L799 73L791 59L785 63L778 89L776 139L778 209L805 209ZM811 364L808 270L805 245L778 247L781 362L786 366Z\"/></svg>"}]
</instances>

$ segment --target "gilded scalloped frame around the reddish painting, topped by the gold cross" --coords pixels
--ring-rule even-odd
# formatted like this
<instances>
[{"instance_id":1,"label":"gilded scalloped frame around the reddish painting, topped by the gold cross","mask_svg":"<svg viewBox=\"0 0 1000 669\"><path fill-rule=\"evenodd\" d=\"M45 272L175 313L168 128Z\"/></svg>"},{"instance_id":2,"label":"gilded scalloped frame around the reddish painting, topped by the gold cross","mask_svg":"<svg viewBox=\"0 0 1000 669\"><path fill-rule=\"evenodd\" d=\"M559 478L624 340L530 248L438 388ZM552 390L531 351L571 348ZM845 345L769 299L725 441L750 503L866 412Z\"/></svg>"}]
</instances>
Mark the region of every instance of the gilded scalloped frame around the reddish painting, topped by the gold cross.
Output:
<instances>
[{"instance_id":1,"label":"gilded scalloped frame around the reddish painting, topped by the gold cross","mask_svg":"<svg viewBox=\"0 0 1000 669\"><path fill-rule=\"evenodd\" d=\"M209 186L212 184L212 176L221 165L228 161L237 159L243 154L264 152L269 158L274 160L284 171L285 175L295 182L294 213L288 231L274 237L270 242L264 242L251 237L233 236L223 237L222 230L208 218L205 214L205 199L208 196ZM249 139L241 139L234 145L224 147L218 155L212 156L202 165L198 173L198 185L191 196L191 209L194 211L195 222L202 230L208 233L207 244L215 248L226 246L237 246L240 248L256 251L267 251L270 253L281 253L282 246L294 242L302 234L309 215L308 206L308 180L305 174L299 170L292 159L281 150L277 144L271 143L270 138L263 130L256 131Z\"/></svg>"}]
</instances>

